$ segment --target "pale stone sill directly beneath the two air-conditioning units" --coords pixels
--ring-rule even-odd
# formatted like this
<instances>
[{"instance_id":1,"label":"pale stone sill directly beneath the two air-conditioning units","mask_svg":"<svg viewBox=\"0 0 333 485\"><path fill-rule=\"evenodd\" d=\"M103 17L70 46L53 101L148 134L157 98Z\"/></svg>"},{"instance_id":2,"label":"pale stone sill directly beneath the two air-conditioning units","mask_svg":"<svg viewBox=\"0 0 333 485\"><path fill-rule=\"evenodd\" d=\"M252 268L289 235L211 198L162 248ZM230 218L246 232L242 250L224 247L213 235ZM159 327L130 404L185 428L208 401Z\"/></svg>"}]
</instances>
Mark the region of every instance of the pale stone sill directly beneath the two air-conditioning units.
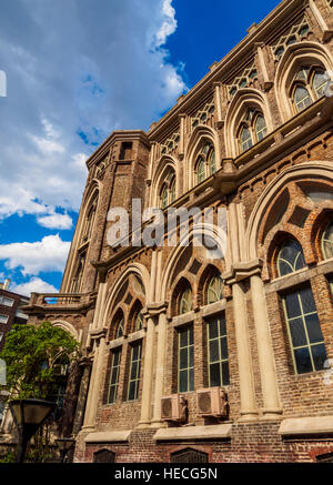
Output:
<instances>
[{"instance_id":1,"label":"pale stone sill directly beneath the two air-conditioning units","mask_svg":"<svg viewBox=\"0 0 333 485\"><path fill-rule=\"evenodd\" d=\"M231 424L193 427L168 427L159 430L154 434L153 439L157 442L184 439L229 439L231 437Z\"/></svg>"}]
</instances>

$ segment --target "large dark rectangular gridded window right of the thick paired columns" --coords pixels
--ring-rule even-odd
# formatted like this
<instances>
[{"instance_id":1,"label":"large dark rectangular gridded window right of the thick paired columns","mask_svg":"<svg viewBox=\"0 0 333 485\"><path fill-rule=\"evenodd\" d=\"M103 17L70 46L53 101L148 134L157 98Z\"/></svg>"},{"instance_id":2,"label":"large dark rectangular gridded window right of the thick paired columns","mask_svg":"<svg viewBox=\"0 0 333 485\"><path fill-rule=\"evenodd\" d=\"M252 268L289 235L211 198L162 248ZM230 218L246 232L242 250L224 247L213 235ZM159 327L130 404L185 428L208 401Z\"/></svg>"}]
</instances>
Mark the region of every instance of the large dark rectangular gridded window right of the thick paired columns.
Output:
<instances>
[{"instance_id":1,"label":"large dark rectangular gridded window right of the thick paired columns","mask_svg":"<svg viewBox=\"0 0 333 485\"><path fill-rule=\"evenodd\" d=\"M284 295L283 305L295 373L323 370L326 351L311 286Z\"/></svg>"}]
</instances>

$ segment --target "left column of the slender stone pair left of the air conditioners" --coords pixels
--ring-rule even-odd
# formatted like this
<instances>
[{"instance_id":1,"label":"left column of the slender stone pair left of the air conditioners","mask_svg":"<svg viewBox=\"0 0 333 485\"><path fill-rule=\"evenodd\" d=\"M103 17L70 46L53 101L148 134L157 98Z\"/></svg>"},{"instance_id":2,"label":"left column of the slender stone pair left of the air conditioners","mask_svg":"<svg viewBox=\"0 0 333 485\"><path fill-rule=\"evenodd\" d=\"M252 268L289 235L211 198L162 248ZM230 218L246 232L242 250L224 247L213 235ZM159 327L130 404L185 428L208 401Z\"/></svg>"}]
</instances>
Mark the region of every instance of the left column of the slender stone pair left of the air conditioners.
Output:
<instances>
[{"instance_id":1,"label":"left column of the slender stone pair left of the air conditioners","mask_svg":"<svg viewBox=\"0 0 333 485\"><path fill-rule=\"evenodd\" d=\"M150 427L151 424L151 392L153 381L154 368L154 336L155 325L153 319L149 313L145 313L147 317L147 336L144 346L144 362L143 362L143 382L142 382L142 400L141 400L141 420L138 427Z\"/></svg>"}]
</instances>

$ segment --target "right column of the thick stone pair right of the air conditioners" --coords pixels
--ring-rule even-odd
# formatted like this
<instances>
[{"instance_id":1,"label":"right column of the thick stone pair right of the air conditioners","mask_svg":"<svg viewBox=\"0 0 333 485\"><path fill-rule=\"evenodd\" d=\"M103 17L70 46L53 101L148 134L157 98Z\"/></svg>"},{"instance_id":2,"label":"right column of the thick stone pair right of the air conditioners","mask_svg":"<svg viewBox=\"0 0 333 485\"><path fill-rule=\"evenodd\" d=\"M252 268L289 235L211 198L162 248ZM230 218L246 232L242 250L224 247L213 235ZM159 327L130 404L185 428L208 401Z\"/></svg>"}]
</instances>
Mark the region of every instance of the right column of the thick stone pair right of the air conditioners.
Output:
<instances>
[{"instance_id":1,"label":"right column of the thick stone pair right of the air conditioners","mask_svg":"<svg viewBox=\"0 0 333 485\"><path fill-rule=\"evenodd\" d=\"M270 334L264 285L260 273L251 276L251 293L253 316L258 341L258 356L263 394L263 418L276 420L281 417L276 371Z\"/></svg>"}]
</instances>

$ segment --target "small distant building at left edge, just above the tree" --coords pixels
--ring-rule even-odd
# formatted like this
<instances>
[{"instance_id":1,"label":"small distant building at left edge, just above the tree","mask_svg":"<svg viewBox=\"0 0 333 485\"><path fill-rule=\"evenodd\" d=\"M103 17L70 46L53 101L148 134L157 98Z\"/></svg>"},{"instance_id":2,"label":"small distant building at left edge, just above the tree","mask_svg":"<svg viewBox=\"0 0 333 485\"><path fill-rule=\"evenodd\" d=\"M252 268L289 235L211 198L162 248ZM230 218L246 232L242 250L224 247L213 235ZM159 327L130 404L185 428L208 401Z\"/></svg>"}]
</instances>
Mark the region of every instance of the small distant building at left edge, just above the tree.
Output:
<instances>
[{"instance_id":1,"label":"small distant building at left edge, just above the tree","mask_svg":"<svg viewBox=\"0 0 333 485\"><path fill-rule=\"evenodd\" d=\"M22 306L29 303L27 296L9 291L10 280L0 283L0 352L4 345L6 334L12 325L22 325L28 322L28 315Z\"/></svg>"}]
</instances>

